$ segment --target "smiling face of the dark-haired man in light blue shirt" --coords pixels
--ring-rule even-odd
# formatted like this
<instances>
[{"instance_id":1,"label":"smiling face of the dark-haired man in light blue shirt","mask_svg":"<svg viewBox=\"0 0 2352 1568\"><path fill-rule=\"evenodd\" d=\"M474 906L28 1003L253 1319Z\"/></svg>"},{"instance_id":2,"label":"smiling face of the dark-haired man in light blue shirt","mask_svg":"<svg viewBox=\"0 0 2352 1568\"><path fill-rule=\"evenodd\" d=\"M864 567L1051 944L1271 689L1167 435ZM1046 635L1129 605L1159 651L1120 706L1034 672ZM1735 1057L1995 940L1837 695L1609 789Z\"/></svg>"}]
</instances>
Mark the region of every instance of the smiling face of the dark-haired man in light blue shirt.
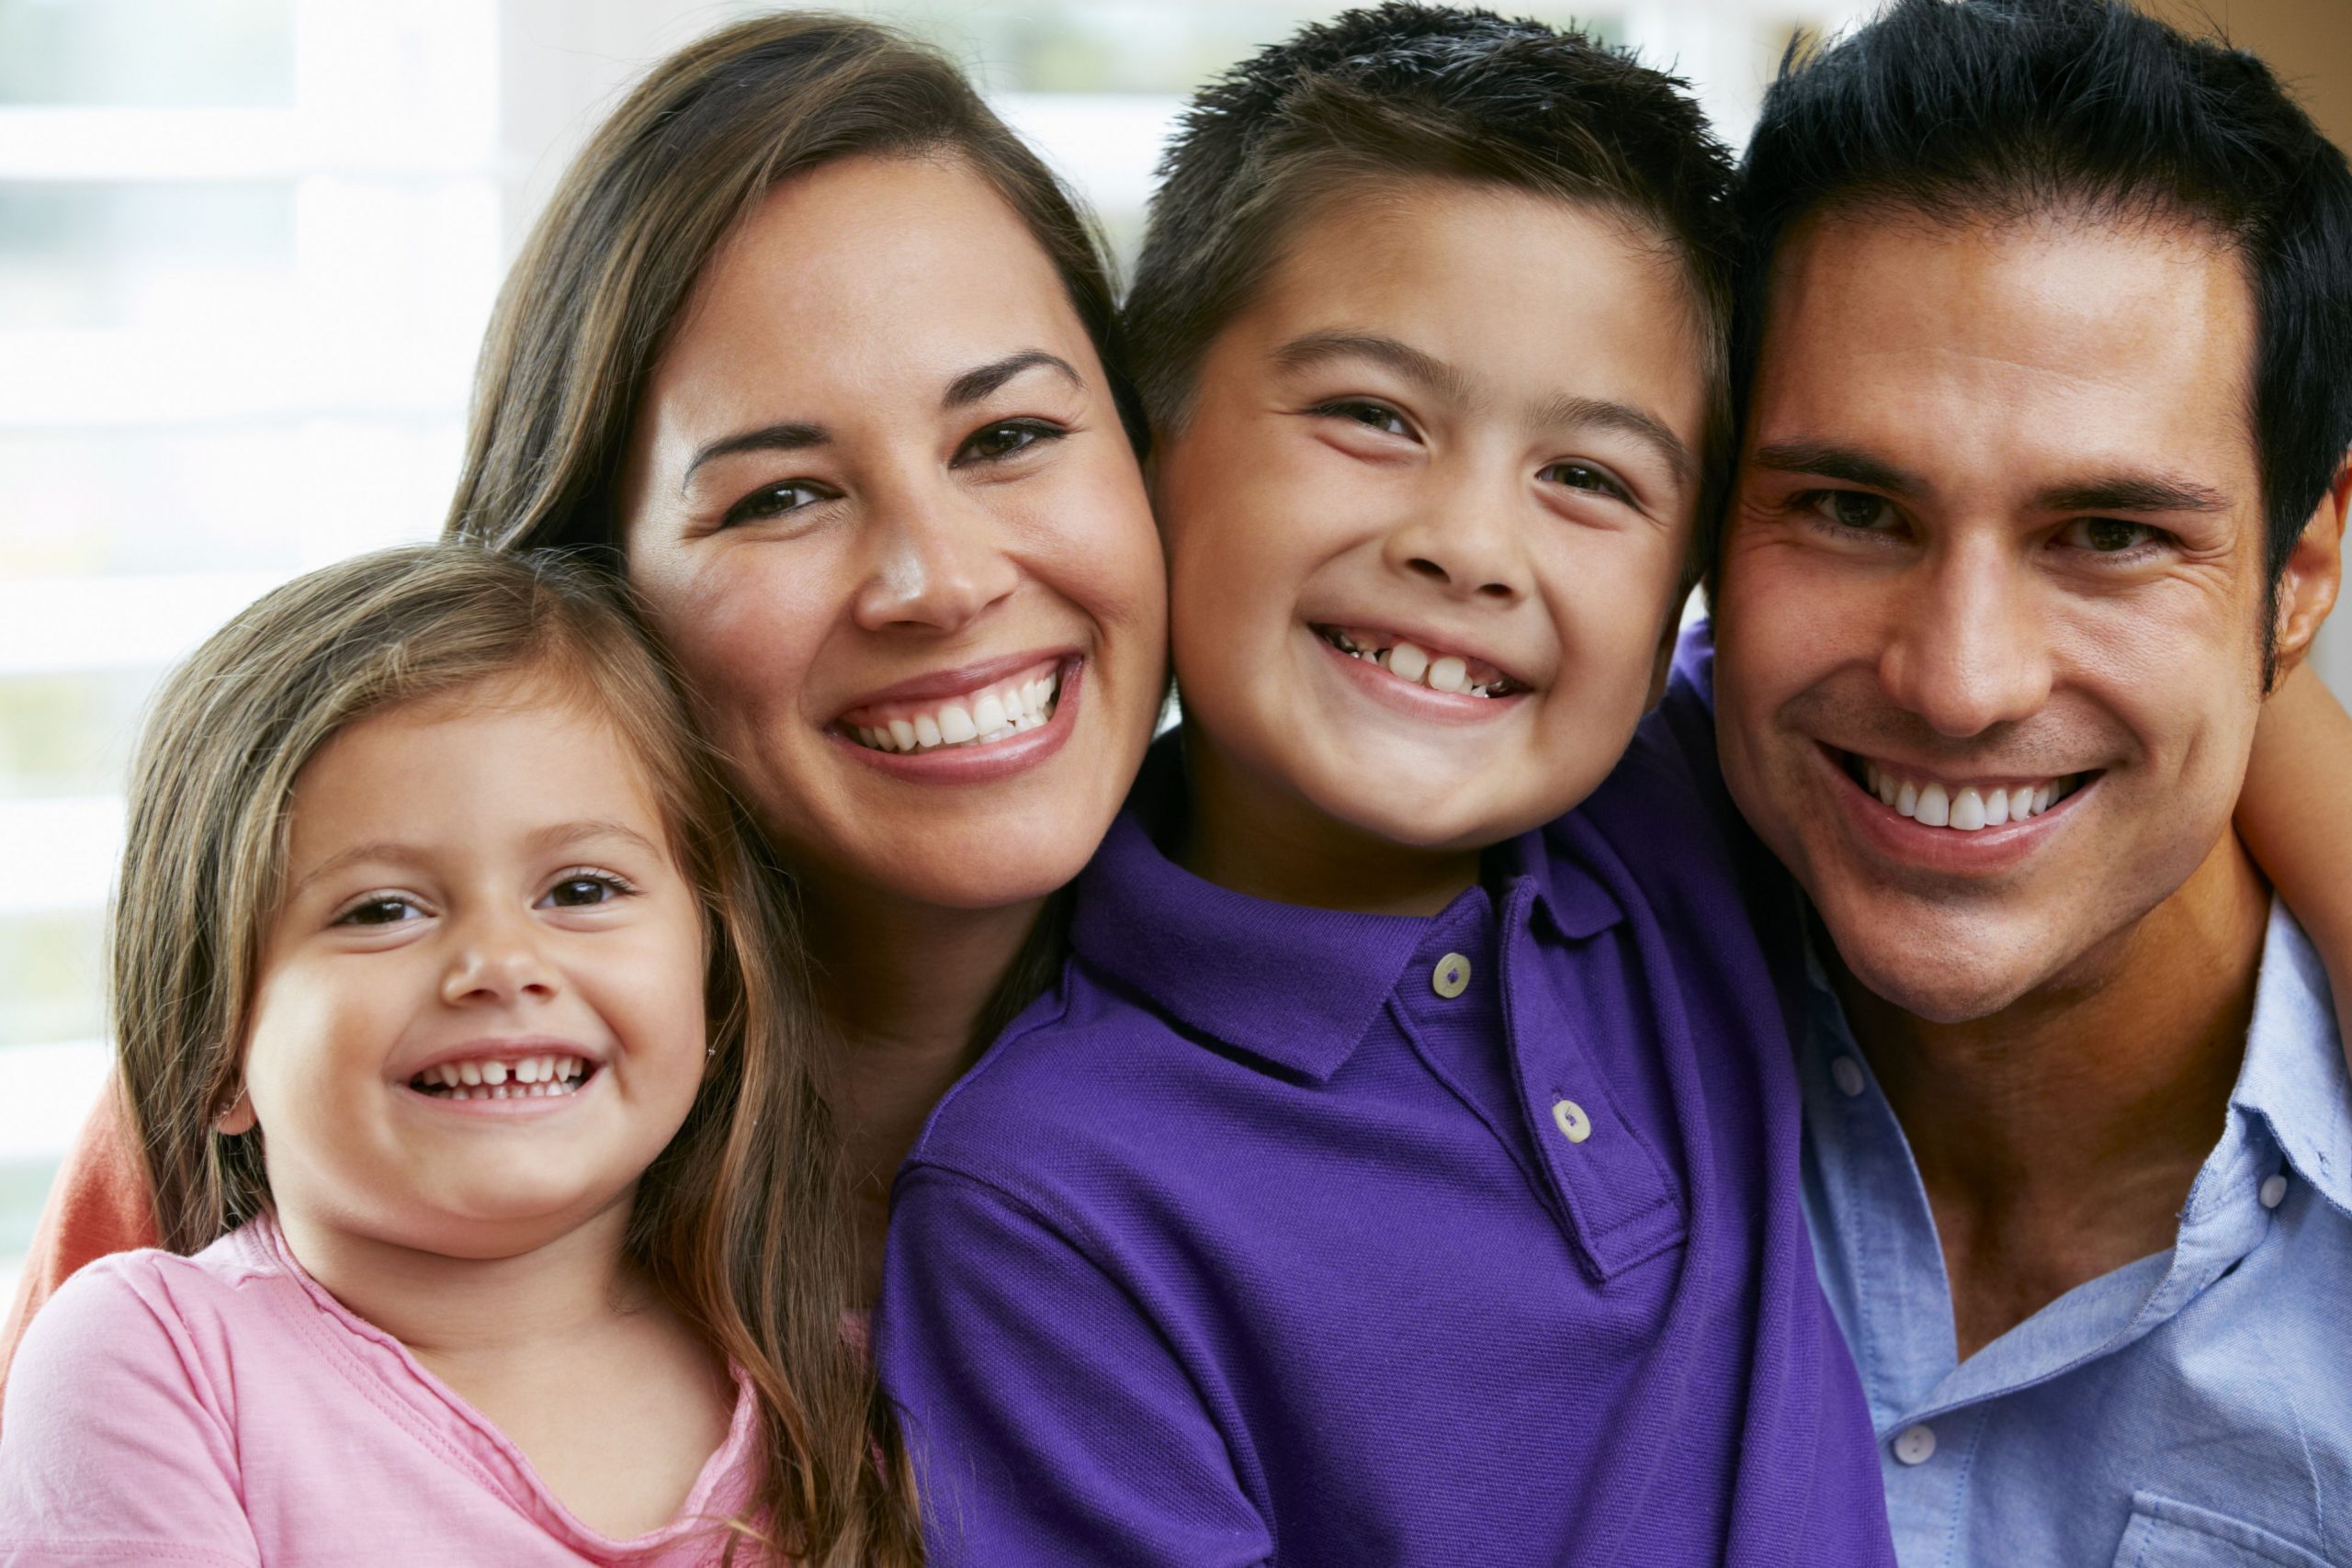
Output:
<instances>
[{"instance_id":1,"label":"smiling face of the dark-haired man in light blue shirt","mask_svg":"<svg viewBox=\"0 0 2352 1568\"><path fill-rule=\"evenodd\" d=\"M2267 602L2251 292L2154 223L1832 216L1769 310L1724 776L1870 990L1983 1018L2227 832Z\"/></svg>"}]
</instances>

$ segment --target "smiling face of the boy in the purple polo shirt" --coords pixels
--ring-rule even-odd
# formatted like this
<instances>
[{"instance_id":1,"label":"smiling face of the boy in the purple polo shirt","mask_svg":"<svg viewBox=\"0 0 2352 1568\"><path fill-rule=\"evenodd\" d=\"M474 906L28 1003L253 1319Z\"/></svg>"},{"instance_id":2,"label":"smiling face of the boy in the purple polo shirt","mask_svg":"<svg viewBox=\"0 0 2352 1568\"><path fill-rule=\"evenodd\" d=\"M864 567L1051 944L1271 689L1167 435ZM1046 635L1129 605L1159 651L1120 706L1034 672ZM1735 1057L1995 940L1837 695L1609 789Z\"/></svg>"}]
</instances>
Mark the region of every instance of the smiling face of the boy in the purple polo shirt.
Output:
<instances>
[{"instance_id":1,"label":"smiling face of the boy in the purple polo shirt","mask_svg":"<svg viewBox=\"0 0 2352 1568\"><path fill-rule=\"evenodd\" d=\"M1583 799L1675 611L1691 322L1658 244L1562 200L1305 219L1155 454L1204 806L1461 856Z\"/></svg>"}]
</instances>

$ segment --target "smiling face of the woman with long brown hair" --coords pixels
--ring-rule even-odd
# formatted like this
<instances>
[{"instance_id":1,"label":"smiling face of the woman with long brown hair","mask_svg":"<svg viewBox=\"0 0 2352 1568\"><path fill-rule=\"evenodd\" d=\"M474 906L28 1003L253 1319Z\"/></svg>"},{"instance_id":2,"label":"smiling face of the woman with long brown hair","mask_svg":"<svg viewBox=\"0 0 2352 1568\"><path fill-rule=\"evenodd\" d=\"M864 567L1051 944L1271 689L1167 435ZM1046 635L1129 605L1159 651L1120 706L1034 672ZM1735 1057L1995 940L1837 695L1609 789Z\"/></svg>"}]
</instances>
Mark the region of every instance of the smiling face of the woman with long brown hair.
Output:
<instances>
[{"instance_id":1,"label":"smiling face of the woman with long brown hair","mask_svg":"<svg viewBox=\"0 0 2352 1568\"><path fill-rule=\"evenodd\" d=\"M779 186L647 388L628 576L793 870L948 907L1094 853L1150 741L1164 581L1051 261L953 160Z\"/></svg>"}]
</instances>

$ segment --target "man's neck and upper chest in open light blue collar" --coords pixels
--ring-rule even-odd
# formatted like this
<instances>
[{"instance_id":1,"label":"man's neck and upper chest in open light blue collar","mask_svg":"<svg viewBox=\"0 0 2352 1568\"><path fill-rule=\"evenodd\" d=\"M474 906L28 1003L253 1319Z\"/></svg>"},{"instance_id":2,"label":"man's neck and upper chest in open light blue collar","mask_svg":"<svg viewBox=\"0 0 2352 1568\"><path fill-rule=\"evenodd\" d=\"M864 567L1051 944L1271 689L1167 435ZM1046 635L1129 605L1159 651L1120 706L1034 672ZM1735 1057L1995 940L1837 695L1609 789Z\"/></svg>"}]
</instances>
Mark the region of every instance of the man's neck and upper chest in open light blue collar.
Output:
<instances>
[{"instance_id":1,"label":"man's neck and upper chest in open light blue collar","mask_svg":"<svg viewBox=\"0 0 2352 1568\"><path fill-rule=\"evenodd\" d=\"M2225 835L2145 919L1990 1018L1929 1023L1832 961L1936 1213L1962 1359L2173 1246L2246 1051L2267 912Z\"/></svg>"}]
</instances>

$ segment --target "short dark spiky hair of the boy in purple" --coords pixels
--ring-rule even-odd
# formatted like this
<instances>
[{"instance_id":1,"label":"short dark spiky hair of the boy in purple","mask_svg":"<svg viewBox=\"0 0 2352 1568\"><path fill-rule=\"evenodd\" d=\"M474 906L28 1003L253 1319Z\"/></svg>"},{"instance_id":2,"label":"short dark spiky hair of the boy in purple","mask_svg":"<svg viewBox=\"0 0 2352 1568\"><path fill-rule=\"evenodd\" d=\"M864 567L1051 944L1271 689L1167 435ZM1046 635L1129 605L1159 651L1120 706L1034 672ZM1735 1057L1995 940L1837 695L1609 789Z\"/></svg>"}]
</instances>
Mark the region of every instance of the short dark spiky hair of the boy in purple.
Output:
<instances>
[{"instance_id":1,"label":"short dark spiky hair of the boy in purple","mask_svg":"<svg viewBox=\"0 0 2352 1568\"><path fill-rule=\"evenodd\" d=\"M1729 468L1731 165L1686 82L1581 33L1430 5L1301 28L1192 99L1160 162L1127 296L1152 425L1183 423L1202 355L1301 214L1409 176L1588 202L1658 233L1689 275L1710 386L1724 388L1710 400L1705 473Z\"/></svg>"}]
</instances>

